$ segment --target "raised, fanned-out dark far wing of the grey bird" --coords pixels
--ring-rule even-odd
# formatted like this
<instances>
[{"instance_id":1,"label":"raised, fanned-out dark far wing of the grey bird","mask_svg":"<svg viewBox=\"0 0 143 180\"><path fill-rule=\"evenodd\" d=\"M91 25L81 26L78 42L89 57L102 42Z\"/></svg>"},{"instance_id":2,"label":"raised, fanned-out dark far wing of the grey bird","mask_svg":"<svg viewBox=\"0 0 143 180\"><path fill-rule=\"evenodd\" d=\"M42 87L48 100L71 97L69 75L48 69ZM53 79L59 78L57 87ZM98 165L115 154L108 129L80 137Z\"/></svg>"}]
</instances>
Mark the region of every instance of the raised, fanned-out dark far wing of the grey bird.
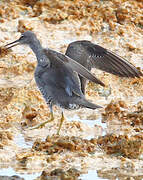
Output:
<instances>
[{"instance_id":1,"label":"raised, fanned-out dark far wing of the grey bird","mask_svg":"<svg viewBox=\"0 0 143 180\"><path fill-rule=\"evenodd\" d=\"M68 45L67 56L88 70L97 68L120 77L140 77L143 74L131 63L117 54L90 41L75 41ZM85 93L86 79L80 75L81 90Z\"/></svg>"}]
</instances>

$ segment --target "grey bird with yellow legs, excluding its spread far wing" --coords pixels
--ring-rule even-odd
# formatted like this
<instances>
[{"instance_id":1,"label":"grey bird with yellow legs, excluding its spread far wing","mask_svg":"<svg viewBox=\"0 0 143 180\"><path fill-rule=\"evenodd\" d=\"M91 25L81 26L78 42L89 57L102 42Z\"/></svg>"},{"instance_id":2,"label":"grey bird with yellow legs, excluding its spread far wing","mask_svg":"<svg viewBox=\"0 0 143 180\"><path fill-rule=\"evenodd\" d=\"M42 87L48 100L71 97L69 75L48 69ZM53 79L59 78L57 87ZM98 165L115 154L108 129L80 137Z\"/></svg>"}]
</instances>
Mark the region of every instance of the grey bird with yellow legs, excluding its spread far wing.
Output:
<instances>
[{"instance_id":1,"label":"grey bird with yellow legs, excluding its spread far wing","mask_svg":"<svg viewBox=\"0 0 143 180\"><path fill-rule=\"evenodd\" d=\"M101 108L101 106L87 101L81 91L78 74L104 86L86 68L64 54L51 49L44 49L36 35L31 31L24 32L18 40L7 44L6 47L9 49L18 44L29 45L35 53L38 62L34 74L35 81L46 103L50 107L50 120L35 128L43 127L46 123L54 120L53 105L57 105L63 109L78 109L81 107L90 109ZM62 111L57 134L60 132L63 121L64 115Z\"/></svg>"}]
</instances>

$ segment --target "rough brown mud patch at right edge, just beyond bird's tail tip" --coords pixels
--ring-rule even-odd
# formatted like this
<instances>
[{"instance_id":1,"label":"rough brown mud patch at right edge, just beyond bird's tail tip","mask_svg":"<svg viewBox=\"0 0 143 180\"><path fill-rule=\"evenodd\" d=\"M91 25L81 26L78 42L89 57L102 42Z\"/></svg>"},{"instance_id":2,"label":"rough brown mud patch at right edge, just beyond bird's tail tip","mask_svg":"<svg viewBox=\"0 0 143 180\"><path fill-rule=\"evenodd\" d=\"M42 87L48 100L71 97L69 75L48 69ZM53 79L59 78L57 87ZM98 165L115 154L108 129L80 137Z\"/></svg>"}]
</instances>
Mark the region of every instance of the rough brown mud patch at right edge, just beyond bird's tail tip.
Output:
<instances>
[{"instance_id":1,"label":"rough brown mud patch at right edge, just beyond bird's tail tip","mask_svg":"<svg viewBox=\"0 0 143 180\"><path fill-rule=\"evenodd\" d=\"M127 105L125 101L112 100L102 113L103 121L112 123L118 121L123 129L129 134L142 135L143 130L143 103L139 100L137 104ZM124 128L125 127L125 128ZM120 132L121 133L121 132ZM123 134L123 132L122 132ZM124 131L125 134L125 131Z\"/></svg>"}]
</instances>

